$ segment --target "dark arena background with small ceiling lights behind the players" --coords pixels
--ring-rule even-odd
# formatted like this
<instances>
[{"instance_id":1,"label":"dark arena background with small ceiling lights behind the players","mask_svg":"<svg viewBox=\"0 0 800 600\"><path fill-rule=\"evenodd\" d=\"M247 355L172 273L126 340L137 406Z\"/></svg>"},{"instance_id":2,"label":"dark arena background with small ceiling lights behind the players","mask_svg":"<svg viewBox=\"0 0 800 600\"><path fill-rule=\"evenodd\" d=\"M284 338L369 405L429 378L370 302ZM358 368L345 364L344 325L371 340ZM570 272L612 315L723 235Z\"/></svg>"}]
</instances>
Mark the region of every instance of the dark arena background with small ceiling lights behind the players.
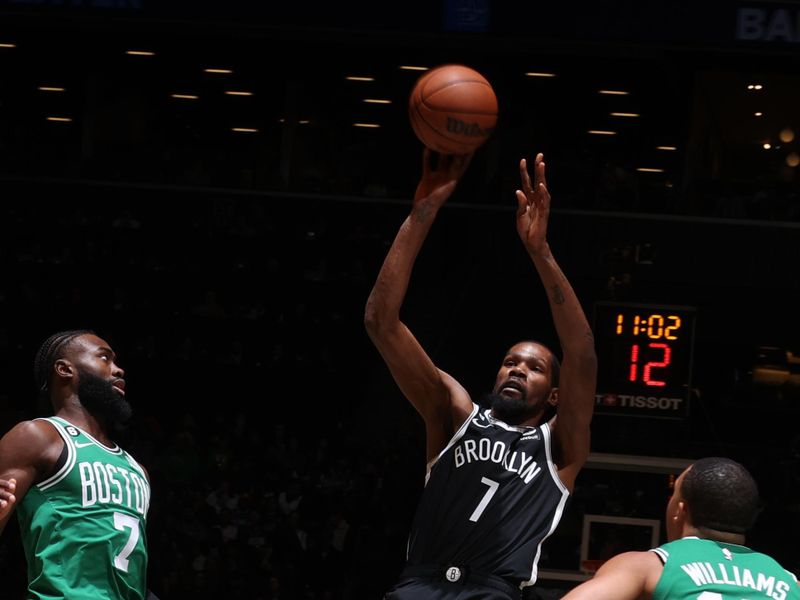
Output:
<instances>
[{"instance_id":1,"label":"dark arena background with small ceiling lights behind the players","mask_svg":"<svg viewBox=\"0 0 800 600\"><path fill-rule=\"evenodd\" d=\"M664 541L675 475L710 455L759 483L748 545L800 572L798 23L796 2L0 0L3 432L48 410L40 342L94 329L126 370L161 600L382 598L424 431L364 304L420 174L408 94L462 63L498 124L403 318L476 394L510 343L557 345L514 225L543 152L597 338L593 452L529 598ZM0 565L23 598L16 519Z\"/></svg>"}]
</instances>

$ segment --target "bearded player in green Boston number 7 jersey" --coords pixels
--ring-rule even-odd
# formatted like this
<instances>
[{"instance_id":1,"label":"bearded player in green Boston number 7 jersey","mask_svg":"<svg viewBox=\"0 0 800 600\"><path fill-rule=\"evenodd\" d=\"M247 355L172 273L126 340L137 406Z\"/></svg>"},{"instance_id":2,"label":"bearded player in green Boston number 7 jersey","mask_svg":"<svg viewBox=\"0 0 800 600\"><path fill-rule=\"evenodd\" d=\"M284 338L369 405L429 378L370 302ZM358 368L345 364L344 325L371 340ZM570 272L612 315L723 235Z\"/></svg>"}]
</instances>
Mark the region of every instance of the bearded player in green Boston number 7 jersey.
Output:
<instances>
[{"instance_id":1,"label":"bearded player in green Boston number 7 jersey","mask_svg":"<svg viewBox=\"0 0 800 600\"><path fill-rule=\"evenodd\" d=\"M35 384L53 416L0 438L0 533L16 509L29 597L148 597L150 479L112 440L132 413L123 377L90 330L53 334L36 353Z\"/></svg>"}]
</instances>

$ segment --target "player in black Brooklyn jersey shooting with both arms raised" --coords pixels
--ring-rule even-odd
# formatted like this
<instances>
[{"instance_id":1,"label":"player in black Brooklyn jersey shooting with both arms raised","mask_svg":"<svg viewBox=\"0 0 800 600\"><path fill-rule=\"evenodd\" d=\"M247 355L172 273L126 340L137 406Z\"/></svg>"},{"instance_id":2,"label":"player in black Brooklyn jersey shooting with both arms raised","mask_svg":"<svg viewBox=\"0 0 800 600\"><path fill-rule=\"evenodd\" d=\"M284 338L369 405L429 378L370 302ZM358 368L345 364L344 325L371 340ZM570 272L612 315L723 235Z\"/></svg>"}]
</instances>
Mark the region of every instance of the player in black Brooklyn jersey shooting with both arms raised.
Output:
<instances>
[{"instance_id":1,"label":"player in black Brooklyn jersey shooting with both arms raised","mask_svg":"<svg viewBox=\"0 0 800 600\"><path fill-rule=\"evenodd\" d=\"M437 213L471 155L424 151L422 177L370 293L367 332L395 382L422 416L425 489L407 561L386 600L508 600L537 578L542 542L556 528L589 454L597 373L586 316L547 242L550 194L545 164L520 161L517 232L547 291L562 360L539 342L514 344L483 408L433 363L400 308ZM526 311L524 298L509 300ZM557 407L557 408L556 408ZM545 420L555 408L556 416Z\"/></svg>"}]
</instances>

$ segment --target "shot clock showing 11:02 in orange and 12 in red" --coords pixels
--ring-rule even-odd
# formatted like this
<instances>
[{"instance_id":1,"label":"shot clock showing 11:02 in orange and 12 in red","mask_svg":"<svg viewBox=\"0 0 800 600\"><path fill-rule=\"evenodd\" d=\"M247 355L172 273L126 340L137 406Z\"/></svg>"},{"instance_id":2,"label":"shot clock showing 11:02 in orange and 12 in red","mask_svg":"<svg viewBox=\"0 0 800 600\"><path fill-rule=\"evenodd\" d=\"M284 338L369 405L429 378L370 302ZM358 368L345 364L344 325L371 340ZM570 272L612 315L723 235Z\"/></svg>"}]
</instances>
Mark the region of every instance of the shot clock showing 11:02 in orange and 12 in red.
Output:
<instances>
[{"instance_id":1,"label":"shot clock showing 11:02 in orange and 12 in red","mask_svg":"<svg viewBox=\"0 0 800 600\"><path fill-rule=\"evenodd\" d=\"M695 317L688 306L596 303L595 412L686 417Z\"/></svg>"}]
</instances>

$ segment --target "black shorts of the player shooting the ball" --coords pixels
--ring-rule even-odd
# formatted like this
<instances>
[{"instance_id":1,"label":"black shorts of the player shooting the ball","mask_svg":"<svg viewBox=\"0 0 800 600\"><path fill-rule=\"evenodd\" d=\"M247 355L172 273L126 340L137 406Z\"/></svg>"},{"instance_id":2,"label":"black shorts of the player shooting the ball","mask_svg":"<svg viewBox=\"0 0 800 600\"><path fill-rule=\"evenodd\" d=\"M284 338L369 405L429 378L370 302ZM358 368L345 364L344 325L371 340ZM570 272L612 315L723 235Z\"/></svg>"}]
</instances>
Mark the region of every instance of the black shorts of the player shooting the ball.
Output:
<instances>
[{"instance_id":1,"label":"black shorts of the player shooting the ball","mask_svg":"<svg viewBox=\"0 0 800 600\"><path fill-rule=\"evenodd\" d=\"M519 600L522 591L493 575L462 572L448 577L446 569L410 567L384 600Z\"/></svg>"}]
</instances>

